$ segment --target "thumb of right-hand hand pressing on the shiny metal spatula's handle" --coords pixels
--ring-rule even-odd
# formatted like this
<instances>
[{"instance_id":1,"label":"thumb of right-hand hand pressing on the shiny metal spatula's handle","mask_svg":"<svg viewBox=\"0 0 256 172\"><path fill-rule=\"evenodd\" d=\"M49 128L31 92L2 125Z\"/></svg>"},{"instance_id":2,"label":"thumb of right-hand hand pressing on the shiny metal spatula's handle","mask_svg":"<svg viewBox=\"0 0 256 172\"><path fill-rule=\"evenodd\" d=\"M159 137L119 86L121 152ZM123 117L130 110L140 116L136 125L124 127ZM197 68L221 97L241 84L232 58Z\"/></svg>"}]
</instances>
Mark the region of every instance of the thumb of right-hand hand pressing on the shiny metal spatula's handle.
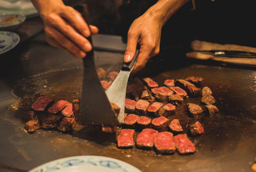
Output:
<instances>
[{"instance_id":1,"label":"thumb of right-hand hand pressing on the shiny metal spatula's handle","mask_svg":"<svg viewBox=\"0 0 256 172\"><path fill-rule=\"evenodd\" d=\"M125 53L124 53L124 62L125 63L130 62L132 60L132 58L134 57L134 54L136 52L137 42L138 42L138 35L128 34L127 46L126 46Z\"/></svg>"}]
</instances>

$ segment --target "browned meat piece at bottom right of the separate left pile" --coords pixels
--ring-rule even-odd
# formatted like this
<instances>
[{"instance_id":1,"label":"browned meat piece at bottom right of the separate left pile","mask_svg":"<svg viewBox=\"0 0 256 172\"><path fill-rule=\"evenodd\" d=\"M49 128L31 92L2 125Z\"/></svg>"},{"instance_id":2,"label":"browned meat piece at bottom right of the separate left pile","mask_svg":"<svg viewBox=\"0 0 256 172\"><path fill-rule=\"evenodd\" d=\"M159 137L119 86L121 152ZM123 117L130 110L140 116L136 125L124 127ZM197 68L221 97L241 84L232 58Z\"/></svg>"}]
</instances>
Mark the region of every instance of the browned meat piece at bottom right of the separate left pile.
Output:
<instances>
[{"instance_id":1,"label":"browned meat piece at bottom right of the separate left pile","mask_svg":"<svg viewBox=\"0 0 256 172\"><path fill-rule=\"evenodd\" d=\"M76 127L76 119L65 117L60 121L57 129L60 132L70 132L74 127Z\"/></svg>"}]
</instances>

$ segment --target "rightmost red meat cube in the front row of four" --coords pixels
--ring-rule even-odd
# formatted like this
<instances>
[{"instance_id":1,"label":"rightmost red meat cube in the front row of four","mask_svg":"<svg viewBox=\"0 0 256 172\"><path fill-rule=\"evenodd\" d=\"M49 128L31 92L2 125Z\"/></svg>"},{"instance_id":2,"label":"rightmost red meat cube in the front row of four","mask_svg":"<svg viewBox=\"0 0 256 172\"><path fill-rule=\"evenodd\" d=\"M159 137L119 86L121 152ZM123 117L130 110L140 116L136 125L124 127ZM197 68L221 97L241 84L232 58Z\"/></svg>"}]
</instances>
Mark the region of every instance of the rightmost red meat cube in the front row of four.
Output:
<instances>
[{"instance_id":1,"label":"rightmost red meat cube in the front row of four","mask_svg":"<svg viewBox=\"0 0 256 172\"><path fill-rule=\"evenodd\" d=\"M187 134L178 134L173 137L176 148L180 154L194 153L196 148L189 140Z\"/></svg>"}]
</instances>

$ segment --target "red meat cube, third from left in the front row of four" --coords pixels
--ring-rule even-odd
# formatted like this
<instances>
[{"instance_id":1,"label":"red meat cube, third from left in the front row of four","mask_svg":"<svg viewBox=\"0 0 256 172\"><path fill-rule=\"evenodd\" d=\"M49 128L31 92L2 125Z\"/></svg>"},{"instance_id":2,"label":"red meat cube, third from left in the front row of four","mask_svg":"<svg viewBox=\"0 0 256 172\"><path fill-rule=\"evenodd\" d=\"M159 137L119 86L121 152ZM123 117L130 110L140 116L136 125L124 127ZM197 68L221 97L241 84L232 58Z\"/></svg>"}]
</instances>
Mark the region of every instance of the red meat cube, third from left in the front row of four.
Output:
<instances>
[{"instance_id":1,"label":"red meat cube, third from left in the front row of four","mask_svg":"<svg viewBox=\"0 0 256 172\"><path fill-rule=\"evenodd\" d=\"M158 132L154 139L157 153L169 154L175 152L175 143L172 132Z\"/></svg>"}]
</instances>

